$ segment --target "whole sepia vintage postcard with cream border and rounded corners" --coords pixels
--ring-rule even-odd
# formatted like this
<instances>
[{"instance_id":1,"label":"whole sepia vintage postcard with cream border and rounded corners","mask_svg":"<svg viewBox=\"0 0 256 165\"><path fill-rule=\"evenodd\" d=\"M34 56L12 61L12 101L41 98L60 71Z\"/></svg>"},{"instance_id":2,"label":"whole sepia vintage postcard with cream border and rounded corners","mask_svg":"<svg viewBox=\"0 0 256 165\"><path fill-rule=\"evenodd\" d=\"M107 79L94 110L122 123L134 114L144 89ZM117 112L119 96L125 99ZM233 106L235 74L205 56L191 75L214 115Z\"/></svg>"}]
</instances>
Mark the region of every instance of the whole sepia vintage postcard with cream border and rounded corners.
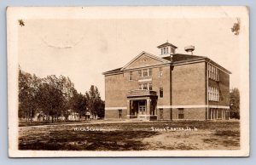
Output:
<instances>
[{"instance_id":1,"label":"whole sepia vintage postcard with cream border and rounded corners","mask_svg":"<svg viewBox=\"0 0 256 165\"><path fill-rule=\"evenodd\" d=\"M9 156L249 156L243 6L7 8Z\"/></svg>"}]
</instances>

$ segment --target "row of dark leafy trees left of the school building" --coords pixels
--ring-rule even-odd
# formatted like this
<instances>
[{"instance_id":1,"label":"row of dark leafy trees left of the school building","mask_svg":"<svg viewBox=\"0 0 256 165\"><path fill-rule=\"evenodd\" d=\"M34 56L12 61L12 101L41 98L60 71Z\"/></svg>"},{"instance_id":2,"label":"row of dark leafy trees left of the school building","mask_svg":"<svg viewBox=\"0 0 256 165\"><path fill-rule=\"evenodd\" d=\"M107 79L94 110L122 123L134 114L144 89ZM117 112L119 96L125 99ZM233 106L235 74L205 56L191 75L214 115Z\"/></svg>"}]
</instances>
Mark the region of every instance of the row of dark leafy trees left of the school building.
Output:
<instances>
[{"instance_id":1,"label":"row of dark leafy trees left of the school building","mask_svg":"<svg viewBox=\"0 0 256 165\"><path fill-rule=\"evenodd\" d=\"M67 117L73 110L83 117L86 112L97 117L104 117L104 101L98 88L91 85L85 94L78 93L69 77L44 78L21 71L19 68L19 117L32 122L36 113L42 112L49 121L58 121Z\"/></svg>"}]
</instances>

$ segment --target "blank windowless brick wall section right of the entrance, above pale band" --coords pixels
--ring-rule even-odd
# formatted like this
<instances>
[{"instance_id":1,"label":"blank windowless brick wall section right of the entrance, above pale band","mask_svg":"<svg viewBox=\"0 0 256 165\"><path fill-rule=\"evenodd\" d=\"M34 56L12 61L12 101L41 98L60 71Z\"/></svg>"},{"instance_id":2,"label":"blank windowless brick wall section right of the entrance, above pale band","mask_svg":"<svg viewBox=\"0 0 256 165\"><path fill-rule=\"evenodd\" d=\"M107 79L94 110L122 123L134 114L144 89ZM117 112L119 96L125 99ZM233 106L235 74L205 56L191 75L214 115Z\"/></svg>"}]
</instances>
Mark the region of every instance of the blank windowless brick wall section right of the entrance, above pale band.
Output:
<instances>
[{"instance_id":1,"label":"blank windowless brick wall section right of the entrance, above pale band","mask_svg":"<svg viewBox=\"0 0 256 165\"><path fill-rule=\"evenodd\" d=\"M205 63L175 65L172 71L172 105L206 105Z\"/></svg>"}]
</instances>

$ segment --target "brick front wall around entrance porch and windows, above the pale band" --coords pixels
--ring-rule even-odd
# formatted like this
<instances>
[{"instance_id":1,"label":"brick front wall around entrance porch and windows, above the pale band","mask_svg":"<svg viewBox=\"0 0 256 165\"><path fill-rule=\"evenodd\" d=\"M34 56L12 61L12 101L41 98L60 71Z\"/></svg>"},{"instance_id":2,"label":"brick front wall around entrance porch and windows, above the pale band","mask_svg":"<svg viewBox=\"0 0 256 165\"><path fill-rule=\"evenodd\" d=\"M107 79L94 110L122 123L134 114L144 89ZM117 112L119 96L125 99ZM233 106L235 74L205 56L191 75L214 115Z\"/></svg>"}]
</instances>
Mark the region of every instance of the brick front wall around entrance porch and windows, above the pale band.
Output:
<instances>
[{"instance_id":1,"label":"brick front wall around entrance porch and windows, above the pale band","mask_svg":"<svg viewBox=\"0 0 256 165\"><path fill-rule=\"evenodd\" d=\"M159 94L164 89L164 97L158 105L170 105L170 66L162 66L163 77L159 77L159 67L152 68L152 77L138 77L138 70L132 71L133 79L129 80L130 71L105 77L105 107L126 107L128 91L138 89L139 79L152 78L152 89ZM149 83L149 82L145 82Z\"/></svg>"}]
</instances>

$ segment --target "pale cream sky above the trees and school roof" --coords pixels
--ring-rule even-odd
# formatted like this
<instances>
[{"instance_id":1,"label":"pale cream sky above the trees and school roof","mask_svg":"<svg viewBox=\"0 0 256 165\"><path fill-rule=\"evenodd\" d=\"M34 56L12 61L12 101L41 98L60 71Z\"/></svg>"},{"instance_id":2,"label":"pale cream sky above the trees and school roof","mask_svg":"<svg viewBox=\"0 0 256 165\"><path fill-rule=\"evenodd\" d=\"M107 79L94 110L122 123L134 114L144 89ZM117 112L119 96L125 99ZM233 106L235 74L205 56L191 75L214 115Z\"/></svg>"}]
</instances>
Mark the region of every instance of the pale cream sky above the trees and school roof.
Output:
<instances>
[{"instance_id":1,"label":"pale cream sky above the trees and school roof","mask_svg":"<svg viewBox=\"0 0 256 165\"><path fill-rule=\"evenodd\" d=\"M199 19L26 19L19 27L19 64L38 77L70 77L82 94L90 85L104 100L102 72L122 67L146 51L159 55L162 43L195 46L195 55L207 56L232 72L230 88L240 88L240 35L230 30L236 18Z\"/></svg>"}]
</instances>

